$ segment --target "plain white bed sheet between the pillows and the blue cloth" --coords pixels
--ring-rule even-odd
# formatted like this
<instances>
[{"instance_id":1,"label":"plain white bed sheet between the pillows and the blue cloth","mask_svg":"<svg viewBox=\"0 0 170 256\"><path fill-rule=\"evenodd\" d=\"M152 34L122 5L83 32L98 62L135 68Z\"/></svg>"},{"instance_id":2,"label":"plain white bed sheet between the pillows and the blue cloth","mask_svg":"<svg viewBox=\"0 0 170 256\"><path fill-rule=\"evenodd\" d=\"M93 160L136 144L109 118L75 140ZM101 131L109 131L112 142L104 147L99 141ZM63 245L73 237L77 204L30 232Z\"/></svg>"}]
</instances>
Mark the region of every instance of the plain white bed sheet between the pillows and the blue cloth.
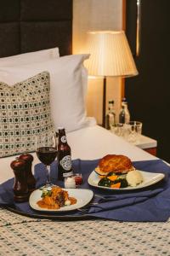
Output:
<instances>
[{"instance_id":1,"label":"plain white bed sheet between the pillows and the blue cloth","mask_svg":"<svg viewBox=\"0 0 170 256\"><path fill-rule=\"evenodd\" d=\"M71 146L71 157L82 160L95 160L102 158L105 154L124 154L131 160L155 160L156 157L137 148L121 137L112 134L99 125L86 127L67 134L68 143ZM39 162L34 153L33 167ZM14 177L10 163L15 156L0 159L0 183L10 177ZM33 168L32 168L33 170Z\"/></svg>"}]
</instances>

